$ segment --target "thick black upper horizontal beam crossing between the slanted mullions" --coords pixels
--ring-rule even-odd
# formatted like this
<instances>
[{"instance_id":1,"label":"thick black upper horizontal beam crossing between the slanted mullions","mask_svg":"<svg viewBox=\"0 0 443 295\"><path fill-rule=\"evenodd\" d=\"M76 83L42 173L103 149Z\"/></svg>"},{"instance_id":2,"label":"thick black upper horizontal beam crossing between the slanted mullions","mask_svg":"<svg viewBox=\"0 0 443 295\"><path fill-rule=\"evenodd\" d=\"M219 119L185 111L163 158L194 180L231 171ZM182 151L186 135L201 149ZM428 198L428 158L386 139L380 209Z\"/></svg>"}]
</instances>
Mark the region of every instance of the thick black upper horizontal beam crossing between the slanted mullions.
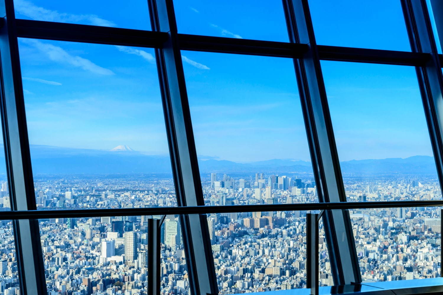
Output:
<instances>
[{"instance_id":1,"label":"thick black upper horizontal beam crossing between the slanted mullions","mask_svg":"<svg viewBox=\"0 0 443 295\"><path fill-rule=\"evenodd\" d=\"M162 48L167 42L165 32L100 27L74 23L16 19L17 37L56 41L84 42L145 48ZM180 50L270 57L299 58L307 44L178 34ZM353 61L389 65L421 66L430 54L408 51L378 50L318 45L321 60ZM443 64L443 55L439 54Z\"/></svg>"}]
</instances>

